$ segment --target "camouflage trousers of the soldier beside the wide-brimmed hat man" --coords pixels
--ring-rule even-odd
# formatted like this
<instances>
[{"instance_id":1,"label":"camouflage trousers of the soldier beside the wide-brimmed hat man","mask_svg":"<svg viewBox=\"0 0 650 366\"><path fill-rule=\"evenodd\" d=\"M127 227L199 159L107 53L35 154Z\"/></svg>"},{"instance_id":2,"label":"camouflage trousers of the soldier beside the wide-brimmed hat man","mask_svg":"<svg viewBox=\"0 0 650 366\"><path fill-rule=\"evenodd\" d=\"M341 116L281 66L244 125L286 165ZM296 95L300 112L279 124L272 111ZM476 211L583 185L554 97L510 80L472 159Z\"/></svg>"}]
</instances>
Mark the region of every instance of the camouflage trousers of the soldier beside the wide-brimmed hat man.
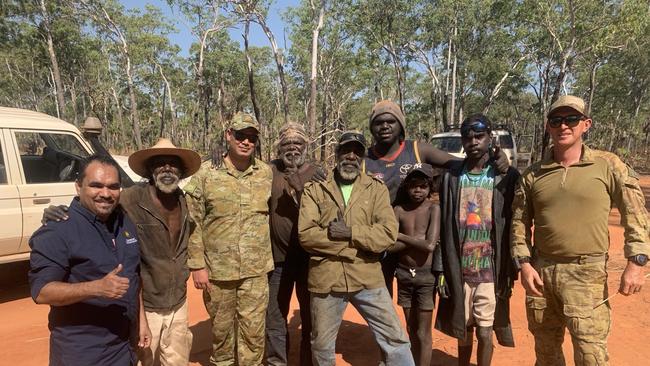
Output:
<instances>
[{"instance_id":1,"label":"camouflage trousers of the soldier beside the wide-brimmed hat man","mask_svg":"<svg viewBox=\"0 0 650 366\"><path fill-rule=\"evenodd\" d=\"M203 301L212 322L214 366L262 365L264 327L269 302L266 275L235 281L210 281Z\"/></svg>"}]
</instances>

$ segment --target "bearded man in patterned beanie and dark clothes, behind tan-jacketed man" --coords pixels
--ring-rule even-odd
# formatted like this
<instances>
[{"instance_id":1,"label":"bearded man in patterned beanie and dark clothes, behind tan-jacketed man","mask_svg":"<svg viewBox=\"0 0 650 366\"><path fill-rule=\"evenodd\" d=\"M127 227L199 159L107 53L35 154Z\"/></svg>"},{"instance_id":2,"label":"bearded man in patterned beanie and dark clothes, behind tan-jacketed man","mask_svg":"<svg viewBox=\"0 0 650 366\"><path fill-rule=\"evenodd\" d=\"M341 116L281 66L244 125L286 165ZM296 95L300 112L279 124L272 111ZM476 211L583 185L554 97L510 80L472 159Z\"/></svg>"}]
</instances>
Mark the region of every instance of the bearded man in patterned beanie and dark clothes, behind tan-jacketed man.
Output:
<instances>
[{"instance_id":1,"label":"bearded man in patterned beanie and dark clothes, behind tan-jacketed man","mask_svg":"<svg viewBox=\"0 0 650 366\"><path fill-rule=\"evenodd\" d=\"M269 273L269 306L266 315L266 362L287 365L289 333L287 316L294 286L300 305L300 364L311 365L311 314L307 272L309 255L298 241L298 210L305 182L320 169L306 161L308 139L302 125L289 122L280 128L277 159L271 161L273 185L270 201L271 248L275 269Z\"/></svg>"}]
</instances>

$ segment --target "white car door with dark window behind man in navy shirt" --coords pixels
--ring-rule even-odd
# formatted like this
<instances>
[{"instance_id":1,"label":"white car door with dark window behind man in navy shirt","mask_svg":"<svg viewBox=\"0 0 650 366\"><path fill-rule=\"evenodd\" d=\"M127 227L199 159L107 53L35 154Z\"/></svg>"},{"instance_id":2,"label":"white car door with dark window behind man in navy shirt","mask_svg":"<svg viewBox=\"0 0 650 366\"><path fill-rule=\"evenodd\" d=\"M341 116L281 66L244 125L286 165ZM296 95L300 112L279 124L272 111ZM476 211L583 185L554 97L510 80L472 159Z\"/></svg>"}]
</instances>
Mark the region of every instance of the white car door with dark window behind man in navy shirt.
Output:
<instances>
[{"instance_id":1,"label":"white car door with dark window behind man in navy shirt","mask_svg":"<svg viewBox=\"0 0 650 366\"><path fill-rule=\"evenodd\" d=\"M43 209L49 205L70 205L76 195L74 180L79 162L90 153L78 135L67 131L12 130L11 135L21 178L20 250L28 251L29 238L41 226Z\"/></svg>"}]
</instances>

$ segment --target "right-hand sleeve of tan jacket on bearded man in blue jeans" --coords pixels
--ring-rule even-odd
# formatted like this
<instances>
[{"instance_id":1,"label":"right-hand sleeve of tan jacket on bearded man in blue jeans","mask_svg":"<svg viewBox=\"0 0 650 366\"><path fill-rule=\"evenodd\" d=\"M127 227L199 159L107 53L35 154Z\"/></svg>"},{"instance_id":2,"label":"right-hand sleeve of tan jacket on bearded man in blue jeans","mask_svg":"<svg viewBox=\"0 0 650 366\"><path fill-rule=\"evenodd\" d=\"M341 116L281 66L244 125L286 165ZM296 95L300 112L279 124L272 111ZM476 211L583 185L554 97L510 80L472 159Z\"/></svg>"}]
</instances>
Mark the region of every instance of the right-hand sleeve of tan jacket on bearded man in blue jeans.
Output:
<instances>
[{"instance_id":1,"label":"right-hand sleeve of tan jacket on bearded man in blue jeans","mask_svg":"<svg viewBox=\"0 0 650 366\"><path fill-rule=\"evenodd\" d=\"M388 189L379 182L374 184L377 194L372 222L369 225L352 225L352 246L373 253L381 253L395 244L398 226L390 205Z\"/></svg>"}]
</instances>

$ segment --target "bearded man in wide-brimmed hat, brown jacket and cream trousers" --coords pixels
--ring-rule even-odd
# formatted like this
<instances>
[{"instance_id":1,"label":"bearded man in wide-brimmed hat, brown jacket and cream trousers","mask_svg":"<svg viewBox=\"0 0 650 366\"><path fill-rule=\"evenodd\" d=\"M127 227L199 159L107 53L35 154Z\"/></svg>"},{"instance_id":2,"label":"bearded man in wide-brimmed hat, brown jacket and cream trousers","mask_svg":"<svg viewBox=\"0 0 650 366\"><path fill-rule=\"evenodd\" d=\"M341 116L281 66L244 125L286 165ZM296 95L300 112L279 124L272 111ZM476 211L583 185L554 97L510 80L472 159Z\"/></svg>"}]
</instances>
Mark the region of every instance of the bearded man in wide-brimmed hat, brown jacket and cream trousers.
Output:
<instances>
[{"instance_id":1,"label":"bearded man in wide-brimmed hat, brown jacket and cream trousers","mask_svg":"<svg viewBox=\"0 0 650 366\"><path fill-rule=\"evenodd\" d=\"M189 363L187 242L192 222L178 183L200 165L196 152L177 148L167 139L129 157L129 167L149 179L124 189L120 197L120 205L137 226L145 309L140 331L151 338L150 347L138 350L139 365ZM50 206L44 218L65 220L65 211L67 207Z\"/></svg>"}]
</instances>

